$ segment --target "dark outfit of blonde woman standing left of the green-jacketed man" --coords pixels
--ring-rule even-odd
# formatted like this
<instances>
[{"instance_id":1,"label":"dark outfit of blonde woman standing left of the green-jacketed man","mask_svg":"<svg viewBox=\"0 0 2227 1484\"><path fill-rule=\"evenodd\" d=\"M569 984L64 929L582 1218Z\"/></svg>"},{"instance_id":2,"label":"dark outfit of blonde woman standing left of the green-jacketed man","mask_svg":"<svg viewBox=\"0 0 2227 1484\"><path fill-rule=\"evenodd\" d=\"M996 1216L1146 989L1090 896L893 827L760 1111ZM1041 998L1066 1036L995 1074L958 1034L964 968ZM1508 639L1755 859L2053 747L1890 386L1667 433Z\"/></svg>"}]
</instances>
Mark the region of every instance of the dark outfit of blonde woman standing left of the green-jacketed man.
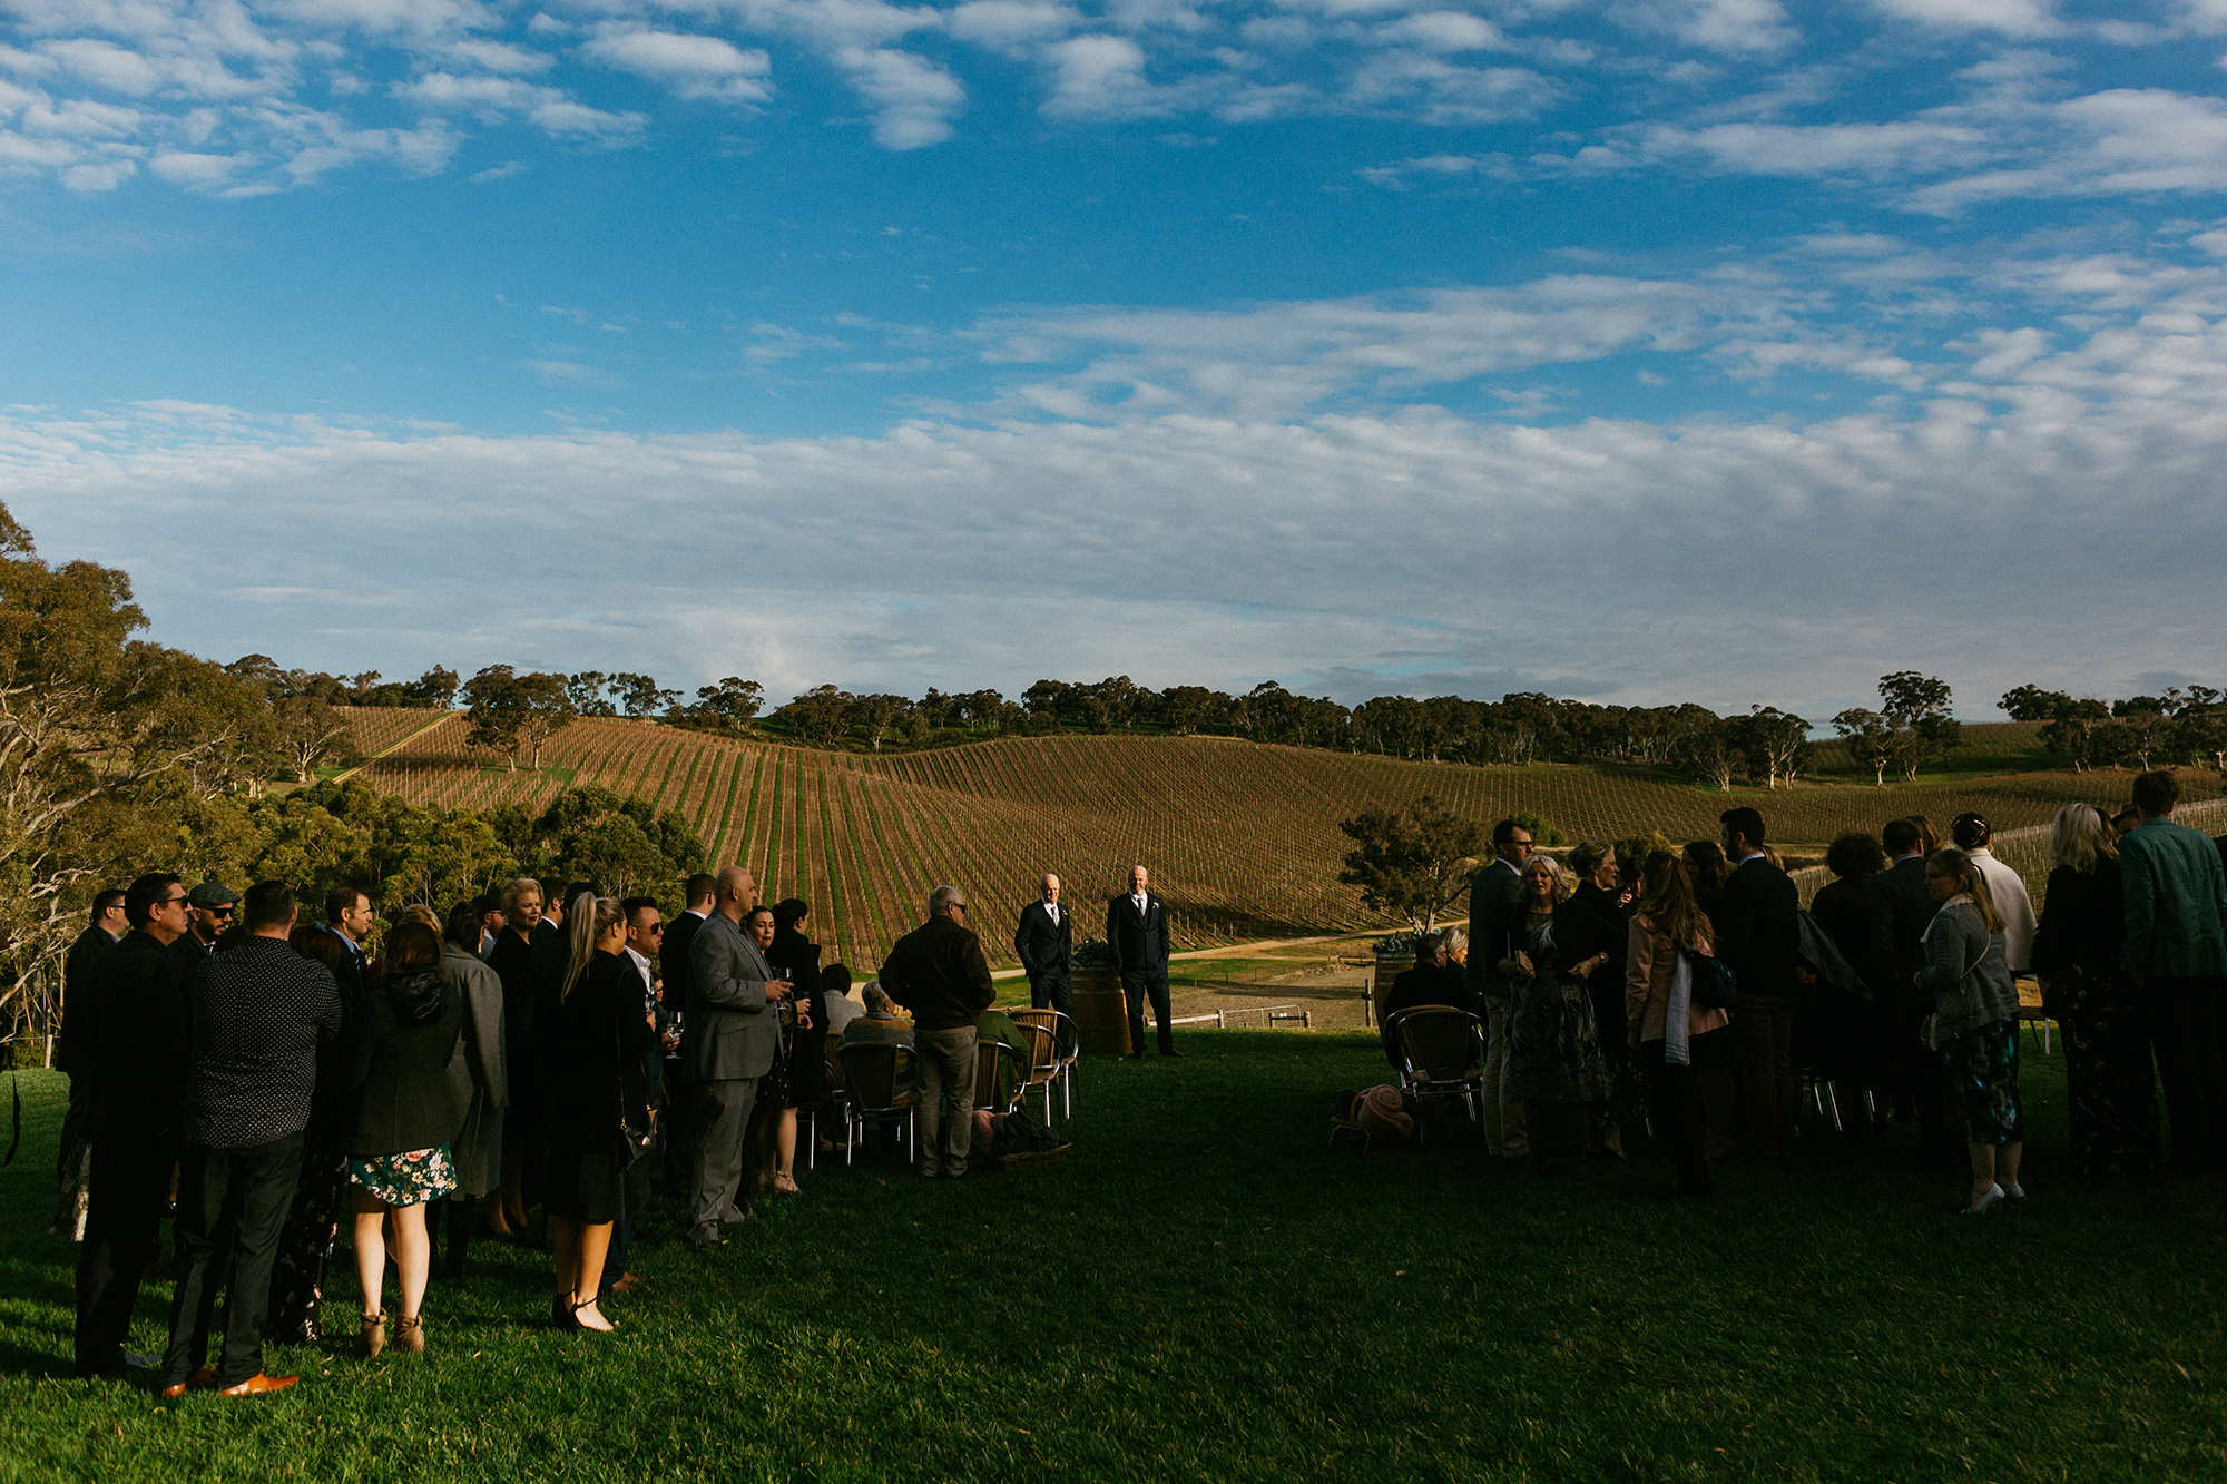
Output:
<instances>
[{"instance_id":1,"label":"dark outfit of blonde woman standing left of the green-jacketed man","mask_svg":"<svg viewBox=\"0 0 2227 1484\"><path fill-rule=\"evenodd\" d=\"M2158 1163L2158 1090L2149 1025L2118 967L2127 909L2118 862L2049 873L2033 972L2047 983L2049 1018L2064 1032L2073 1170L2142 1174Z\"/></svg>"}]
</instances>

